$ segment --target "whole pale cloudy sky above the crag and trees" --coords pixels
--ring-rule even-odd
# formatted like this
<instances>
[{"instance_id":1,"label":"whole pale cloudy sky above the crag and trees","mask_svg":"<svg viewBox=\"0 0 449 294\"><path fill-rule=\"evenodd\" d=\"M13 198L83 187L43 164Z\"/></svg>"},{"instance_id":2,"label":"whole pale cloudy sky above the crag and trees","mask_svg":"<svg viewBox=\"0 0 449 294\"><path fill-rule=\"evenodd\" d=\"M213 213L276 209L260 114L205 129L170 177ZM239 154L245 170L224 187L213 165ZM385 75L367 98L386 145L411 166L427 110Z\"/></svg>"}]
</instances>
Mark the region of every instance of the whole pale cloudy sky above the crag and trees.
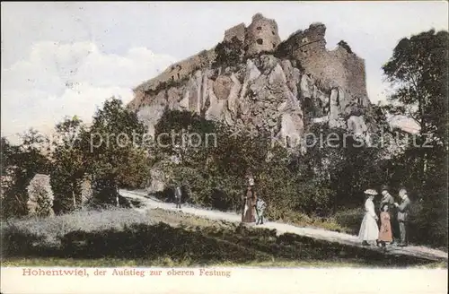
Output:
<instances>
[{"instance_id":1,"label":"whole pale cloudy sky above the crag and trees","mask_svg":"<svg viewBox=\"0 0 449 294\"><path fill-rule=\"evenodd\" d=\"M173 62L213 48L225 30L255 13L277 21L281 39L312 22L326 25L328 49L344 39L365 59L368 97L383 101L382 65L404 37L448 30L448 4L423 2L176 2L1 4L1 131L14 141L49 132L77 115L85 122L112 96Z\"/></svg>"}]
</instances>

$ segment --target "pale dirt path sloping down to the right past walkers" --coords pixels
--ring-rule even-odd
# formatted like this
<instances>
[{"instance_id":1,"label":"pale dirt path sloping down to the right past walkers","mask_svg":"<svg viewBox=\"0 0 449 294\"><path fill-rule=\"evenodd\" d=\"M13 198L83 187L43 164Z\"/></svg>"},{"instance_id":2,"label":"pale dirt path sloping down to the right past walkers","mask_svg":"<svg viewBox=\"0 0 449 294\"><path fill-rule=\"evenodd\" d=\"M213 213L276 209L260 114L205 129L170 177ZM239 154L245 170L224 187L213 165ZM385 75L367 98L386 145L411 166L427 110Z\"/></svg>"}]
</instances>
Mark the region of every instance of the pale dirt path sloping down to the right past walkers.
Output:
<instances>
[{"instance_id":1,"label":"pale dirt path sloping down to the right past walkers","mask_svg":"<svg viewBox=\"0 0 449 294\"><path fill-rule=\"evenodd\" d=\"M175 208L174 203L163 203L154 198L149 198L146 196L145 192L141 191L128 191L120 190L120 195L124 197L135 199L142 203L139 208L134 208L139 212L146 212L149 209L160 208L167 211L179 211ZM183 206L182 212L196 215L199 217L204 217L210 220L227 220L232 222L240 222L241 216L233 212L218 212L213 210ZM311 238L317 238L321 240L326 240L329 242L338 242L340 244L346 244L349 246L361 246L357 236L348 235L344 233L338 233L326 229L313 229L296 227L294 225L289 225L280 222L267 222L263 225L259 225L260 228L276 229L277 234L293 233L300 236L306 236ZM381 250L375 246L368 247L372 250ZM426 258L435 261L445 261L447 262L447 253L441 250L432 249L426 246L407 246L407 247L389 247L386 254L389 255L412 255L421 258Z\"/></svg>"}]
</instances>

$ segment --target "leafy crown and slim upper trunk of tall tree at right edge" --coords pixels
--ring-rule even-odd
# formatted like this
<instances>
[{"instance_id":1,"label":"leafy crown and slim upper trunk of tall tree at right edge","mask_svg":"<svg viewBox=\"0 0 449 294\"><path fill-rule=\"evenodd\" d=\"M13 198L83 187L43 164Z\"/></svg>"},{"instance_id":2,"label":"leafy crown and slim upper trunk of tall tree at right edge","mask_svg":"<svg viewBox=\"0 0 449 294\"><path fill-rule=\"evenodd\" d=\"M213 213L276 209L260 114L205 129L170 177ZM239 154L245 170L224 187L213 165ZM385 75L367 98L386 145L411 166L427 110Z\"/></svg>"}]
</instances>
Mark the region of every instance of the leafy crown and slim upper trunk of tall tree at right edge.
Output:
<instances>
[{"instance_id":1,"label":"leafy crown and slim upper trunk of tall tree at right edge","mask_svg":"<svg viewBox=\"0 0 449 294\"><path fill-rule=\"evenodd\" d=\"M383 65L386 80L393 94L389 110L393 114L413 118L420 126L417 143L427 139L432 144L448 147L448 45L447 31L428 30L401 39L390 60ZM420 148L419 170L426 180L427 149Z\"/></svg>"}]
</instances>

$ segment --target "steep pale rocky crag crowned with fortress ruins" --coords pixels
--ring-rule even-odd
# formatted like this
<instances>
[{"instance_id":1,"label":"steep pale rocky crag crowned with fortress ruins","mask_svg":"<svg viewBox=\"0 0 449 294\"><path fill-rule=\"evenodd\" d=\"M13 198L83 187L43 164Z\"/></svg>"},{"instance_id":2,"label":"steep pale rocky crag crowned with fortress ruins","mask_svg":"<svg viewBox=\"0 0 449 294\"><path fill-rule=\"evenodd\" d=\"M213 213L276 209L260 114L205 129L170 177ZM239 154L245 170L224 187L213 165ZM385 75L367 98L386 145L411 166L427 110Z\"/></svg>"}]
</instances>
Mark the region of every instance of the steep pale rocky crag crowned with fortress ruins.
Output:
<instances>
[{"instance_id":1,"label":"steep pale rocky crag crowned with fortress ruins","mask_svg":"<svg viewBox=\"0 0 449 294\"><path fill-rule=\"evenodd\" d=\"M150 132L164 108L194 111L230 127L267 130L286 145L310 124L365 134L365 62L348 44L326 49L326 27L313 23L281 41L277 22L260 13L225 31L215 48L167 68L135 89L128 108Z\"/></svg>"}]
</instances>

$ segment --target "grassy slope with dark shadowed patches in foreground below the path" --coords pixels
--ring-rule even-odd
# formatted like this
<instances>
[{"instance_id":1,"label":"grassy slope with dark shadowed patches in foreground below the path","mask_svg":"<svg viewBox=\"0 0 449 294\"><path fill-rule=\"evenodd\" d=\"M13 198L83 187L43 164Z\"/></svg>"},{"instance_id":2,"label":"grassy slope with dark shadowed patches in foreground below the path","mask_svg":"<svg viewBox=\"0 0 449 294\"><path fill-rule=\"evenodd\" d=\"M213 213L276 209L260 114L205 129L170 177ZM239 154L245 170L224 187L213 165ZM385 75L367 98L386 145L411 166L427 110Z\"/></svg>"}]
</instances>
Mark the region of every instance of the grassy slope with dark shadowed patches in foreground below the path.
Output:
<instances>
[{"instance_id":1,"label":"grassy slope with dark shadowed patches in foreground below the path","mask_svg":"<svg viewBox=\"0 0 449 294\"><path fill-rule=\"evenodd\" d=\"M2 224L2 266L440 266L182 212L82 211Z\"/></svg>"}]
</instances>

